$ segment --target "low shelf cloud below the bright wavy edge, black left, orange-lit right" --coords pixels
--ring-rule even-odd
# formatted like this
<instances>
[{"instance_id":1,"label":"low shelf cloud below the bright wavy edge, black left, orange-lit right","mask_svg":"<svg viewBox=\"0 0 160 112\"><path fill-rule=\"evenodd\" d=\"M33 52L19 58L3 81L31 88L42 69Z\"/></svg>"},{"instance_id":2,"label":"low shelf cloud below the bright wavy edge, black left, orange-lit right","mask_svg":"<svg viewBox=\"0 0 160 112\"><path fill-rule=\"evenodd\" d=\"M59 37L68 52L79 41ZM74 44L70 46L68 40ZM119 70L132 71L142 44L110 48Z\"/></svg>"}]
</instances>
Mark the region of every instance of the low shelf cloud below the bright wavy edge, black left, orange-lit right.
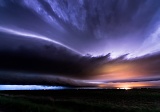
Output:
<instances>
[{"instance_id":1,"label":"low shelf cloud below the bright wavy edge, black left, orange-lit right","mask_svg":"<svg viewBox=\"0 0 160 112\"><path fill-rule=\"evenodd\" d=\"M9 43L0 49L1 84L99 86L160 80L160 53L133 59L127 54L115 59L110 54L83 56L56 43L1 34L1 40Z\"/></svg>"}]
</instances>

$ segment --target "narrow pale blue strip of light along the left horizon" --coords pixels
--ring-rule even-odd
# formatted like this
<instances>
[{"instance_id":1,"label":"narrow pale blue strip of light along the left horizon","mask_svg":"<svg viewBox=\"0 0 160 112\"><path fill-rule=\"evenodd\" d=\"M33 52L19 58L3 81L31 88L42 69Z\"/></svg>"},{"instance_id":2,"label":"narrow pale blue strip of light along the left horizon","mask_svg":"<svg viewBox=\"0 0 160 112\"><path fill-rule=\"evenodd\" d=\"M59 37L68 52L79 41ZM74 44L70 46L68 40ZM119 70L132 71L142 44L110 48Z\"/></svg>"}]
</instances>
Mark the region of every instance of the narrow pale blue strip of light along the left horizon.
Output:
<instances>
[{"instance_id":1,"label":"narrow pale blue strip of light along the left horizon","mask_svg":"<svg viewBox=\"0 0 160 112\"><path fill-rule=\"evenodd\" d=\"M0 85L0 90L61 90L63 86L42 86L42 85Z\"/></svg>"}]
</instances>

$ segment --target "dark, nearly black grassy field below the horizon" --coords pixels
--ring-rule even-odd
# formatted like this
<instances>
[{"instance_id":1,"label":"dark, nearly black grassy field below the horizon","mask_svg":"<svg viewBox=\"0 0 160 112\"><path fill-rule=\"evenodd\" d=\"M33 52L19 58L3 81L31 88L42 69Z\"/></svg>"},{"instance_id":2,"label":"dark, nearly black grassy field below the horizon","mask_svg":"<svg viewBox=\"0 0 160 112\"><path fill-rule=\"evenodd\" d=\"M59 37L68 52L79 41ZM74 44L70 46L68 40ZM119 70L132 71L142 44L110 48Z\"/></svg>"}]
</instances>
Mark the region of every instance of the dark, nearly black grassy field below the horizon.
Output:
<instances>
[{"instance_id":1,"label":"dark, nearly black grassy field below the horizon","mask_svg":"<svg viewBox=\"0 0 160 112\"><path fill-rule=\"evenodd\" d=\"M160 112L160 90L0 91L1 111Z\"/></svg>"}]
</instances>

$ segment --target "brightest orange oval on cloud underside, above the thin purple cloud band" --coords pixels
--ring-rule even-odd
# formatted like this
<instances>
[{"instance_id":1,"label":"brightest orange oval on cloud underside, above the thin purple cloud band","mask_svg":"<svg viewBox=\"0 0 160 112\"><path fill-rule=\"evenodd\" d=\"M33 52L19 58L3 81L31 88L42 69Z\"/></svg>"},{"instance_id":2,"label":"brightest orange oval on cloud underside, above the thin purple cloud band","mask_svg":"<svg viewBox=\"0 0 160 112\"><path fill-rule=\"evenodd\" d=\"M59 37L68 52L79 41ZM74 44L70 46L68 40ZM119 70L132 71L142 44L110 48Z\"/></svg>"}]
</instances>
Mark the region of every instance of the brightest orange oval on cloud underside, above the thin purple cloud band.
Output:
<instances>
[{"instance_id":1,"label":"brightest orange oval on cloud underside, above the thin purple cloud band","mask_svg":"<svg viewBox=\"0 0 160 112\"><path fill-rule=\"evenodd\" d=\"M95 79L125 80L143 76L144 71L134 64L118 63L101 66L94 70L93 74Z\"/></svg>"}]
</instances>

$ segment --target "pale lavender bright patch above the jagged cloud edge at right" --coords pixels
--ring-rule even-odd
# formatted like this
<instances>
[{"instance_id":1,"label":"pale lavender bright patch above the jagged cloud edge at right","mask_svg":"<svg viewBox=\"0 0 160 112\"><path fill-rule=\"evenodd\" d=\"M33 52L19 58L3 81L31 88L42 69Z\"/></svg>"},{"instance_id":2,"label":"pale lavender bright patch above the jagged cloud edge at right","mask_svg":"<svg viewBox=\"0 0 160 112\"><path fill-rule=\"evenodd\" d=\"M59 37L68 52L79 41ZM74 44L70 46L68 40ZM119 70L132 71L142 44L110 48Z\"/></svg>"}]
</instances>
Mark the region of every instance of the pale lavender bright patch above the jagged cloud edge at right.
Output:
<instances>
[{"instance_id":1,"label":"pale lavender bright patch above the jagged cloud edge at right","mask_svg":"<svg viewBox=\"0 0 160 112\"><path fill-rule=\"evenodd\" d=\"M132 46L128 46L132 47ZM124 54L126 55L126 59L132 59L136 57L141 57L147 54L153 54L156 52L160 52L160 24L158 27L152 31L148 36L146 36L146 39L142 43L142 45L135 50L127 50L127 48L123 48L121 50L114 50L111 51L111 59L118 58L119 56L122 56ZM93 53L95 55L96 53ZM99 55L99 54L98 54ZM98 56L97 54L95 56Z\"/></svg>"}]
</instances>

